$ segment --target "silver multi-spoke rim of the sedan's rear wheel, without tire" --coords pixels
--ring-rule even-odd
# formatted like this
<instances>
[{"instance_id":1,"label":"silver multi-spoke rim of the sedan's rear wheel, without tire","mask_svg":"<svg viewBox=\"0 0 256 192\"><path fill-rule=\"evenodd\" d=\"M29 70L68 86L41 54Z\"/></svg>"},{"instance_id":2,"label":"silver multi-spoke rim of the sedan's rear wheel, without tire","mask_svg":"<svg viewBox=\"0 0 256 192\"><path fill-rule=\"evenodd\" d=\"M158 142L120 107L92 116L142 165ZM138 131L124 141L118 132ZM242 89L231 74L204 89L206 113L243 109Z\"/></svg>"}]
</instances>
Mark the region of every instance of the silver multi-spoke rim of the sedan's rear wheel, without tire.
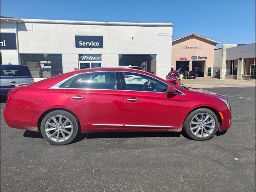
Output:
<instances>
[{"instance_id":1,"label":"silver multi-spoke rim of the sedan's rear wheel, without tire","mask_svg":"<svg viewBox=\"0 0 256 192\"><path fill-rule=\"evenodd\" d=\"M56 115L50 117L44 126L44 132L50 140L63 142L68 140L73 133L73 124L65 116Z\"/></svg>"}]
</instances>

